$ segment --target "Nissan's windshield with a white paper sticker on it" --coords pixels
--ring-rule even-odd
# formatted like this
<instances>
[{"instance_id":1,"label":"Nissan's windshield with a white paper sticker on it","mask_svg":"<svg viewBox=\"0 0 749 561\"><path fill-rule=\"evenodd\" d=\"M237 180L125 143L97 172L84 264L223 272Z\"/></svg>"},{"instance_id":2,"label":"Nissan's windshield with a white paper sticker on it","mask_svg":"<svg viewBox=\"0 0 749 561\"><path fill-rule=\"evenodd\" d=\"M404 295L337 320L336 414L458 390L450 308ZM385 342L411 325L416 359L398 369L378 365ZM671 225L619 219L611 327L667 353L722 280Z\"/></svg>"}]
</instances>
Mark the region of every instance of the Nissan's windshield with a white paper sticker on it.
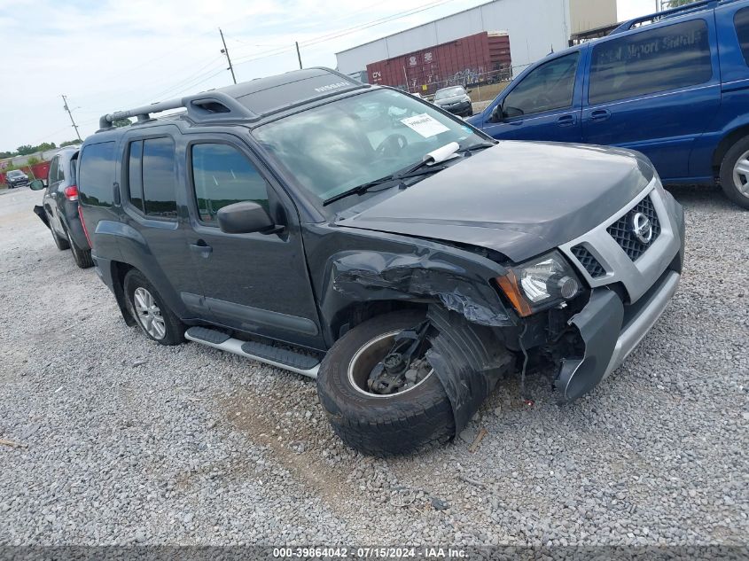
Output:
<instances>
[{"instance_id":1,"label":"Nissan's windshield with a white paper sticker on it","mask_svg":"<svg viewBox=\"0 0 749 561\"><path fill-rule=\"evenodd\" d=\"M394 90L340 99L253 134L321 200L408 168L445 144L486 142L467 125Z\"/></svg>"}]
</instances>

